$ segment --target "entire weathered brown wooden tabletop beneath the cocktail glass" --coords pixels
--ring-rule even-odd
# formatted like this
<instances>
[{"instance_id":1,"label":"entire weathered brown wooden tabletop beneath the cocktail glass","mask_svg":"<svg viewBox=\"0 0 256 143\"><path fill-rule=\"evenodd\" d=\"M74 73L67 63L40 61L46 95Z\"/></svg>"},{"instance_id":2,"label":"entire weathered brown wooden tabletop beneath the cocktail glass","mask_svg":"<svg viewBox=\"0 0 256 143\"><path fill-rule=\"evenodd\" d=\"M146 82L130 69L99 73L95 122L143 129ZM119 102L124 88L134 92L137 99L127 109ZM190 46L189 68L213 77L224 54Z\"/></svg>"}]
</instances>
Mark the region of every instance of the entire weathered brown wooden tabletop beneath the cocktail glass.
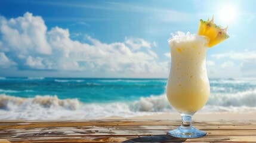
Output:
<instances>
[{"instance_id":1,"label":"entire weathered brown wooden tabletop beneath the cocktail glass","mask_svg":"<svg viewBox=\"0 0 256 143\"><path fill-rule=\"evenodd\" d=\"M0 120L0 139L10 142L256 142L256 120L193 122L207 135L179 139L166 135L177 120ZM0 140L1 143L1 140Z\"/></svg>"}]
</instances>

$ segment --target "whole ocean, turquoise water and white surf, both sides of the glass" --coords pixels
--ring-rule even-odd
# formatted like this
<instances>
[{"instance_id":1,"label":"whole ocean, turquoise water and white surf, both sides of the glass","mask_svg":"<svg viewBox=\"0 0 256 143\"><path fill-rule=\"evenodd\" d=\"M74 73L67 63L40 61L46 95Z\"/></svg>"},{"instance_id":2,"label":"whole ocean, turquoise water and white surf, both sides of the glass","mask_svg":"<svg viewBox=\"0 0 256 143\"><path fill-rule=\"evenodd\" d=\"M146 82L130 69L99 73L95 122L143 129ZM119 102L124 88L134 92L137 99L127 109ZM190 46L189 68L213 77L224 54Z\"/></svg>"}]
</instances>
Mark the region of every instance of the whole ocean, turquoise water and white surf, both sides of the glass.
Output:
<instances>
[{"instance_id":1,"label":"whole ocean, turquoise water and white surf, both sides of the glass","mask_svg":"<svg viewBox=\"0 0 256 143\"><path fill-rule=\"evenodd\" d=\"M96 119L177 113L167 79L0 77L0 119ZM256 111L255 79L209 79L200 113Z\"/></svg>"}]
</instances>

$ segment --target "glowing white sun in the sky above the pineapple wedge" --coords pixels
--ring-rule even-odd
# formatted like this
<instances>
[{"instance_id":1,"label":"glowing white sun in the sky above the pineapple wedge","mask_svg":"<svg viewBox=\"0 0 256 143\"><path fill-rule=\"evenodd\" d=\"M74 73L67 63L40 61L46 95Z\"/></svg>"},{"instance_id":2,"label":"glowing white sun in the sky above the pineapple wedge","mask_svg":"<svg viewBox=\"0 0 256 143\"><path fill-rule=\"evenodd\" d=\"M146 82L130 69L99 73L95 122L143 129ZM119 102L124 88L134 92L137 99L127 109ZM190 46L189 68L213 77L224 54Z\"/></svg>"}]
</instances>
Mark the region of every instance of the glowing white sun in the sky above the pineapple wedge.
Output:
<instances>
[{"instance_id":1,"label":"glowing white sun in the sky above the pineapple wedge","mask_svg":"<svg viewBox=\"0 0 256 143\"><path fill-rule=\"evenodd\" d=\"M220 9L220 18L222 21L226 23L230 23L236 17L236 10L235 7L232 6L224 6Z\"/></svg>"}]
</instances>

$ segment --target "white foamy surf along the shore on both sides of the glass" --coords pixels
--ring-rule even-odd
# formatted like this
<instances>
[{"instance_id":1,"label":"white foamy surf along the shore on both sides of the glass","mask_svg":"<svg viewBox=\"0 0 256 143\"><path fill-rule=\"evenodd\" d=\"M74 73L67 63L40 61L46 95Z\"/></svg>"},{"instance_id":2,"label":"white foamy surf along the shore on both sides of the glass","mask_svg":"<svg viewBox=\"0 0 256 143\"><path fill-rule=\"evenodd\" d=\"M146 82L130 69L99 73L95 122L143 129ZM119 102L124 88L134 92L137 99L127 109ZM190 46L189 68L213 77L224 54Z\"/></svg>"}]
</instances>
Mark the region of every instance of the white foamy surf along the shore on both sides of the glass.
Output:
<instances>
[{"instance_id":1,"label":"white foamy surf along the shore on both sides of the glass","mask_svg":"<svg viewBox=\"0 0 256 143\"><path fill-rule=\"evenodd\" d=\"M211 94L200 113L256 111L256 89L235 94ZM143 116L177 113L165 94L141 97L136 101L84 103L78 99L59 99L56 95L20 98L0 95L0 119L95 119L107 116Z\"/></svg>"}]
</instances>

